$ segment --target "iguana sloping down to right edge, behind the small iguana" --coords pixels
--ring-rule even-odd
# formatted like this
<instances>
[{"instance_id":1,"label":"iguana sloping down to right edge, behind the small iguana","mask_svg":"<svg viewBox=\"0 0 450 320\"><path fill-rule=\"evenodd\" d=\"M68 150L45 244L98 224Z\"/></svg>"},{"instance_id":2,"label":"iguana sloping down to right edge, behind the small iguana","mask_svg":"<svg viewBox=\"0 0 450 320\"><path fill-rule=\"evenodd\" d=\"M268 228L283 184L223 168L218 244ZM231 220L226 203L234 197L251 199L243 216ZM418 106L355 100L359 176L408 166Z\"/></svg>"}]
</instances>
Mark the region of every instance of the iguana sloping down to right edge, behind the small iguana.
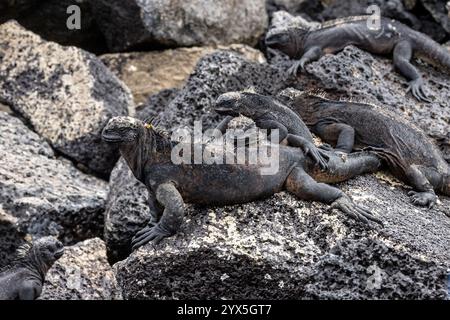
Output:
<instances>
[{"instance_id":1,"label":"iguana sloping down to right edge, behind the small iguana","mask_svg":"<svg viewBox=\"0 0 450 320\"><path fill-rule=\"evenodd\" d=\"M450 168L439 149L419 128L375 105L333 101L318 94L286 89L280 99L291 101L311 131L341 152L368 148L385 160L392 173L413 186L415 205L432 207L434 190L450 196Z\"/></svg>"}]
</instances>

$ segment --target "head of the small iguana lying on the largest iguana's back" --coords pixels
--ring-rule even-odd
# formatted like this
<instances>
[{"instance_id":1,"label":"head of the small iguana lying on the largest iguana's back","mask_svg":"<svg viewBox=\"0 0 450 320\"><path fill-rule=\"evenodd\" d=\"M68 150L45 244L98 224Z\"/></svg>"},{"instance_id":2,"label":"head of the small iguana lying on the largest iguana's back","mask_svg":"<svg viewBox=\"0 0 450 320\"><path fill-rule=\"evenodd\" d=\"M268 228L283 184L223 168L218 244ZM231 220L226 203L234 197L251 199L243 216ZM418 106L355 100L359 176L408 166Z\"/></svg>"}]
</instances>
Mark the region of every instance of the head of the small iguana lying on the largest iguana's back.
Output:
<instances>
[{"instance_id":1,"label":"head of the small iguana lying on the largest iguana's back","mask_svg":"<svg viewBox=\"0 0 450 320\"><path fill-rule=\"evenodd\" d=\"M221 115L233 117L243 115L254 119L267 111L262 106L268 103L271 103L270 97L251 91L234 91L220 95L214 110Z\"/></svg>"}]
</instances>

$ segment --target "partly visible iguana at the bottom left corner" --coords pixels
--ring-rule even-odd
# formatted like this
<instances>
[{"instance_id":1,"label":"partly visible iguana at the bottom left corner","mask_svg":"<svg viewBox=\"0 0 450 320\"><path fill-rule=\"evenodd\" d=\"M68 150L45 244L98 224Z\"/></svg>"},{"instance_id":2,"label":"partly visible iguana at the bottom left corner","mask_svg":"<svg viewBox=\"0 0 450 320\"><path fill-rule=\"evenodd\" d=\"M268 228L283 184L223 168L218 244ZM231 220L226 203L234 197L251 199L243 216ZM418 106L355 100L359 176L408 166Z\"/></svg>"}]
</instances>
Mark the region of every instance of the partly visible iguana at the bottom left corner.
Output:
<instances>
[{"instance_id":1,"label":"partly visible iguana at the bottom left corner","mask_svg":"<svg viewBox=\"0 0 450 320\"><path fill-rule=\"evenodd\" d=\"M41 295L45 275L64 254L53 237L36 240L18 250L17 260L0 272L0 300L34 300Z\"/></svg>"}]
</instances>

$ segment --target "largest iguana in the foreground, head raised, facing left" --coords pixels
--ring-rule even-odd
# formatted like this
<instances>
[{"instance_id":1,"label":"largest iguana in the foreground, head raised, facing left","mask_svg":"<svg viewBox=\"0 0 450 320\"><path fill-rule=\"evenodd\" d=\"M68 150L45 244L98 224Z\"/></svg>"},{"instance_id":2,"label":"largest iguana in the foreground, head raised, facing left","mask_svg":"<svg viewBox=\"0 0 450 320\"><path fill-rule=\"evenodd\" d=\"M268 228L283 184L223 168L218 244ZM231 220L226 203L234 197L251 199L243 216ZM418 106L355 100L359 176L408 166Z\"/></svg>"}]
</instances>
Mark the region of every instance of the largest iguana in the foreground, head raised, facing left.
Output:
<instances>
[{"instance_id":1,"label":"largest iguana in the foreground, head raised, facing left","mask_svg":"<svg viewBox=\"0 0 450 320\"><path fill-rule=\"evenodd\" d=\"M151 220L139 231L133 249L147 242L159 243L175 234L183 221L184 203L228 205L254 201L285 189L300 199L331 204L349 216L380 223L366 209L353 203L341 190L320 181L344 181L355 175L378 170L380 160L373 154L349 156L347 161L330 153L327 173L317 170L301 150L279 145L279 170L262 174L257 164L174 164L174 143L150 124L131 117L112 118L102 133L116 143L134 176L147 186ZM277 145L278 146L278 145ZM269 152L275 152L272 148Z\"/></svg>"}]
</instances>

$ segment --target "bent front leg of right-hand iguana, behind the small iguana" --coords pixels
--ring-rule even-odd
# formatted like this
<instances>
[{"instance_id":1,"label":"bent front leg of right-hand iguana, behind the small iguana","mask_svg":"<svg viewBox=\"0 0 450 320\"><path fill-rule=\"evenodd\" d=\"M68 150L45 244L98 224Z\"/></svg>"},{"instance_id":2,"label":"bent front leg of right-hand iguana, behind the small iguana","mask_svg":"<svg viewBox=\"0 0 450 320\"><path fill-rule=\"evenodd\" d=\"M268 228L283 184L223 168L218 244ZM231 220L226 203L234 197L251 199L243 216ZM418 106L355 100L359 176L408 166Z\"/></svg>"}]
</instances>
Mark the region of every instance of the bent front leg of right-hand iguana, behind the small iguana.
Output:
<instances>
[{"instance_id":1,"label":"bent front leg of right-hand iguana, behind the small iguana","mask_svg":"<svg viewBox=\"0 0 450 320\"><path fill-rule=\"evenodd\" d=\"M324 141L336 141L334 151L350 153L355 144L355 129L344 123L319 122L314 132ZM326 147L326 150L329 149Z\"/></svg>"}]
</instances>

